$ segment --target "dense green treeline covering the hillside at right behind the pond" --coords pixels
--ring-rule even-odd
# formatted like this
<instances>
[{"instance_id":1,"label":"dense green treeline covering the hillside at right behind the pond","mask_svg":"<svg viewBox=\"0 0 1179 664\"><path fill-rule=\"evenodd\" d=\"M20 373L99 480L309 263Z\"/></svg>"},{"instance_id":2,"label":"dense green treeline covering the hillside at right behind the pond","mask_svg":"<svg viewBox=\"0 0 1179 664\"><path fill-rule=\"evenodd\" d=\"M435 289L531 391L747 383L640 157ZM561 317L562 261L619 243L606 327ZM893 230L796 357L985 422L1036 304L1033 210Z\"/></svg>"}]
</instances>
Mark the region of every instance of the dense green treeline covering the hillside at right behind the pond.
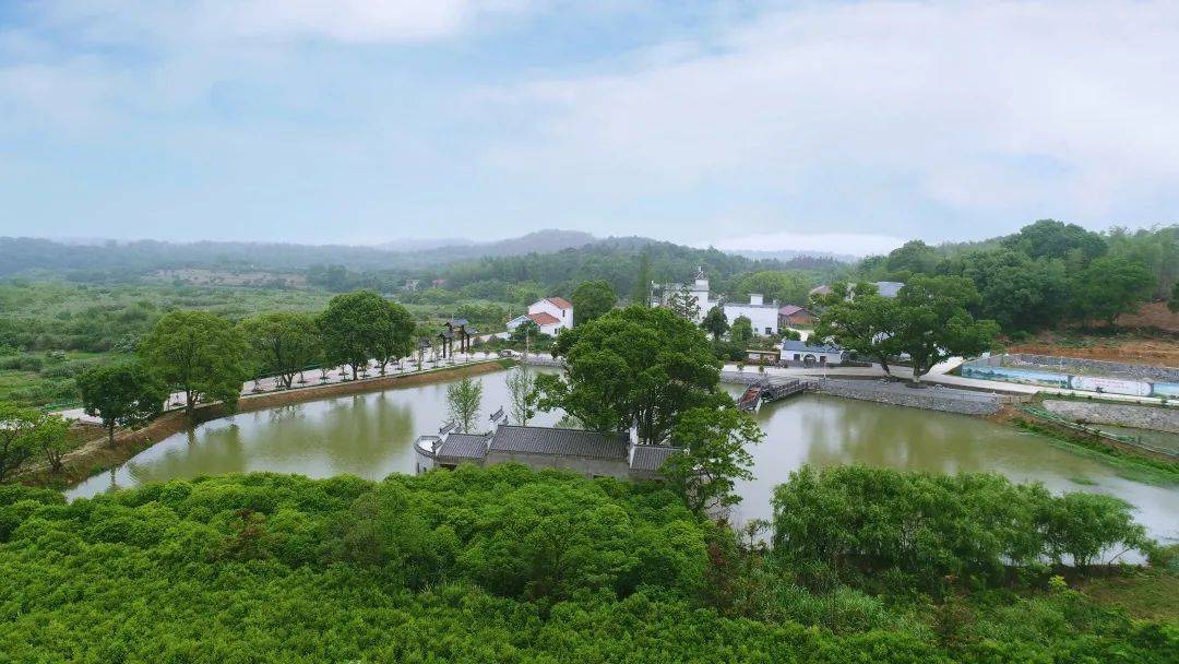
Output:
<instances>
[{"instance_id":1,"label":"dense green treeline covering the hillside at right behind the pond","mask_svg":"<svg viewBox=\"0 0 1179 664\"><path fill-rule=\"evenodd\" d=\"M1175 297L1179 226L1107 234L1042 219L979 245L913 241L864 259L856 278L908 282L914 275L969 278L971 313L1021 336L1061 323L1112 326L1151 300Z\"/></svg>"}]
</instances>

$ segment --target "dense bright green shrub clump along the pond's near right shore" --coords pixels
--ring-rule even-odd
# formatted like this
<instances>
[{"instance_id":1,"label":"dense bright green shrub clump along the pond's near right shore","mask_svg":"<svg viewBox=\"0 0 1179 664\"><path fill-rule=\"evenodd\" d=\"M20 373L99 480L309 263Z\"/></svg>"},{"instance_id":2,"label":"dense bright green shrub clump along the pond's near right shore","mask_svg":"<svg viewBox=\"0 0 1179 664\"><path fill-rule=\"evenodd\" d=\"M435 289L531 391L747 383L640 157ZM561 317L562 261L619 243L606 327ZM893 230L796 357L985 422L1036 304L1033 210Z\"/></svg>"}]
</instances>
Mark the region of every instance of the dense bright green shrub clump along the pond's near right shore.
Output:
<instances>
[{"instance_id":1,"label":"dense bright green shrub clump along the pond's near right shore","mask_svg":"<svg viewBox=\"0 0 1179 664\"><path fill-rule=\"evenodd\" d=\"M1013 567L1087 565L1114 546L1146 551L1131 509L992 473L803 467L775 489L773 544L791 563L937 590L957 577L994 584Z\"/></svg>"}]
</instances>

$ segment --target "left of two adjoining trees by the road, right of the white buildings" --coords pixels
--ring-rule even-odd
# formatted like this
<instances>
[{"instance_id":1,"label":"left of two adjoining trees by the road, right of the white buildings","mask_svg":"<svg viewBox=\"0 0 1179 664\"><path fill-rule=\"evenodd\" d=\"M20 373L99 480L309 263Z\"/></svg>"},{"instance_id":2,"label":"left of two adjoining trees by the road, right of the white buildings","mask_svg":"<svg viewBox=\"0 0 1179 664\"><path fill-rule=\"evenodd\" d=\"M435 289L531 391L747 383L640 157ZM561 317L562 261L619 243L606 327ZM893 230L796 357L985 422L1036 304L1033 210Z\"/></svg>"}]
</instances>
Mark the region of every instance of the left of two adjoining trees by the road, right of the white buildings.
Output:
<instances>
[{"instance_id":1,"label":"left of two adjoining trees by the road, right of the white buildings","mask_svg":"<svg viewBox=\"0 0 1179 664\"><path fill-rule=\"evenodd\" d=\"M852 294L855 296L852 297ZM812 340L839 347L876 360L885 374L897 348L896 301L877 292L870 283L836 283L829 294L811 296L818 311Z\"/></svg>"}]
</instances>

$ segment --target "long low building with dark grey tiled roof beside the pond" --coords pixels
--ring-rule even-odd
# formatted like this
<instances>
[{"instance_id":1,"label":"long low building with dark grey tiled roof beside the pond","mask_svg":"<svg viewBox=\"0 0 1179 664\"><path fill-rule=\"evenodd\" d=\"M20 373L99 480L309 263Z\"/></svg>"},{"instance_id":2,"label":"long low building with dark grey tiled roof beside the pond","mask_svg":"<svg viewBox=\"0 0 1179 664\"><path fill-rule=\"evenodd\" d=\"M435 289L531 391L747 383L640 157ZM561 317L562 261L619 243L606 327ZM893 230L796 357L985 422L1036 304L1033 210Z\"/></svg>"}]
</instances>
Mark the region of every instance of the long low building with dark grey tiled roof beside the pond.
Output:
<instances>
[{"instance_id":1,"label":"long low building with dark grey tiled roof beside the pond","mask_svg":"<svg viewBox=\"0 0 1179 664\"><path fill-rule=\"evenodd\" d=\"M538 471L560 468L587 478L620 480L661 479L664 461L683 452L679 447L635 445L625 434L503 423L481 434L423 435L414 448L419 473L460 464L523 464Z\"/></svg>"}]
</instances>

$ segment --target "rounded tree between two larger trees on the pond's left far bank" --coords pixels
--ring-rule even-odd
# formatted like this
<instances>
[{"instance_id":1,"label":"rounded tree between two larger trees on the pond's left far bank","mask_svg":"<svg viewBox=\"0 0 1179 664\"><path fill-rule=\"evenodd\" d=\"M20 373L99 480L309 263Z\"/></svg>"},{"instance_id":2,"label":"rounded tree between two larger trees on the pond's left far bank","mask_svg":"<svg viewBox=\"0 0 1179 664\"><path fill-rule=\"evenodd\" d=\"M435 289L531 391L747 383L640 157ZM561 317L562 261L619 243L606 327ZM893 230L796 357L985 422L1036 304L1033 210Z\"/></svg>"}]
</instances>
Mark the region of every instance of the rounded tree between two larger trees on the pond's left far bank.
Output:
<instances>
[{"instance_id":1,"label":"rounded tree between two larger trees on the pond's left far bank","mask_svg":"<svg viewBox=\"0 0 1179 664\"><path fill-rule=\"evenodd\" d=\"M275 311L238 323L256 366L290 388L295 375L322 357L320 328L308 314Z\"/></svg>"}]
</instances>

